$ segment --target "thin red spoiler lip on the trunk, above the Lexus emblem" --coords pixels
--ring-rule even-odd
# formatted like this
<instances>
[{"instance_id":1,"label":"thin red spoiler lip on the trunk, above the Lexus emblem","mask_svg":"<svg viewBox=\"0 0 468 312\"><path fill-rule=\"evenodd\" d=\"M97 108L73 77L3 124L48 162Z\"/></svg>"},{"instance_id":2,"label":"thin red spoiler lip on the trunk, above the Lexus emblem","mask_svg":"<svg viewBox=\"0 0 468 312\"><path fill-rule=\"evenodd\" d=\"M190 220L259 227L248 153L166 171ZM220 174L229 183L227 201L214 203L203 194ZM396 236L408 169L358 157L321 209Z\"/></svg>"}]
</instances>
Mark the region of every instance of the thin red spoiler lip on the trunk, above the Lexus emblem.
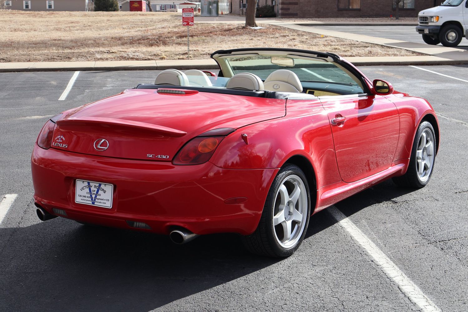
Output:
<instances>
[{"instance_id":1,"label":"thin red spoiler lip on the trunk, above the Lexus emblem","mask_svg":"<svg viewBox=\"0 0 468 312\"><path fill-rule=\"evenodd\" d=\"M115 119L115 118L102 118L102 117L70 117L60 119L56 123L58 126L75 126L75 125L112 125L118 128L131 128L141 129L146 131L153 131L168 137L183 137L187 132L160 126L152 123L141 123L139 121Z\"/></svg>"}]
</instances>

